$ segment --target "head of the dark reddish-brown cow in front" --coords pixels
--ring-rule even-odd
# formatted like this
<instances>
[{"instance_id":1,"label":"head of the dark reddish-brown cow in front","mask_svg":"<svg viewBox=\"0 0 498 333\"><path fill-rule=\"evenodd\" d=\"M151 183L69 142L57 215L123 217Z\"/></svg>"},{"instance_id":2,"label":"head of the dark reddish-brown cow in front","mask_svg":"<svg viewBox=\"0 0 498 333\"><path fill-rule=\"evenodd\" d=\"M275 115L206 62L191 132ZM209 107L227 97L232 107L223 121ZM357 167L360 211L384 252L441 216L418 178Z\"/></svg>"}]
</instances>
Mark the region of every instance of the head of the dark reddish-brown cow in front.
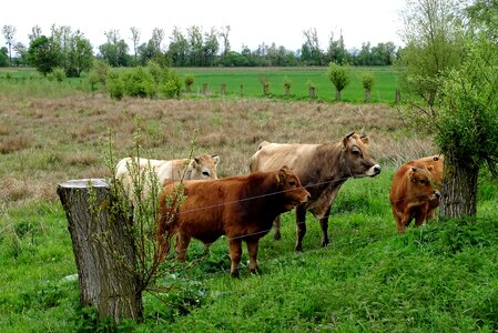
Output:
<instances>
[{"instance_id":1,"label":"head of the dark reddish-brown cow in front","mask_svg":"<svg viewBox=\"0 0 498 333\"><path fill-rule=\"evenodd\" d=\"M301 203L305 203L311 194L301 184L297 174L287 165L278 170L275 175L277 188L283 193L285 210L292 210Z\"/></svg>"}]
</instances>

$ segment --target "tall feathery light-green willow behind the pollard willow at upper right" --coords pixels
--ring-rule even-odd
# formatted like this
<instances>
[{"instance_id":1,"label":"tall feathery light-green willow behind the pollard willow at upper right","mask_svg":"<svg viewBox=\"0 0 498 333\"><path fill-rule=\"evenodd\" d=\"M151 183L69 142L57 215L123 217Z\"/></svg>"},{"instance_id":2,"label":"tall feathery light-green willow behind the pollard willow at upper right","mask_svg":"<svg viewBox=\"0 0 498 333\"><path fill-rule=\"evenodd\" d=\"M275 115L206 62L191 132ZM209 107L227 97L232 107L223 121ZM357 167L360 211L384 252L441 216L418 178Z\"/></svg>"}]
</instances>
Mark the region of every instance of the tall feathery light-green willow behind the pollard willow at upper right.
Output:
<instances>
[{"instance_id":1,"label":"tall feathery light-green willow behind the pollard willow at upper right","mask_svg":"<svg viewBox=\"0 0 498 333\"><path fill-rule=\"evenodd\" d=\"M463 56L459 0L407 0L402 12L400 32L405 48L397 69L402 88L423 99L430 108L436 102L441 74L458 67Z\"/></svg>"}]
</instances>

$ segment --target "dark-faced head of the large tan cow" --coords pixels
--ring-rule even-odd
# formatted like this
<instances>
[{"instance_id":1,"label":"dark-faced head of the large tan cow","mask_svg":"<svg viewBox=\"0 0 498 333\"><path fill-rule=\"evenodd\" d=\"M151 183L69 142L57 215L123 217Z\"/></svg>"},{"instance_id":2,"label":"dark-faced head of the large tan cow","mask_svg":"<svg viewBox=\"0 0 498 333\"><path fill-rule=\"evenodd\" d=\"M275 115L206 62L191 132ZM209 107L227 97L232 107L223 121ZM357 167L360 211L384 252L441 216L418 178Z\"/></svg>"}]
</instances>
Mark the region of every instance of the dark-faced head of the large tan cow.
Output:
<instances>
[{"instance_id":1,"label":"dark-faced head of the large tan cow","mask_svg":"<svg viewBox=\"0 0 498 333\"><path fill-rule=\"evenodd\" d=\"M380 173L380 165L375 162L368 150L368 137L352 132L343 138L341 168L348 176L375 176Z\"/></svg>"}]
</instances>

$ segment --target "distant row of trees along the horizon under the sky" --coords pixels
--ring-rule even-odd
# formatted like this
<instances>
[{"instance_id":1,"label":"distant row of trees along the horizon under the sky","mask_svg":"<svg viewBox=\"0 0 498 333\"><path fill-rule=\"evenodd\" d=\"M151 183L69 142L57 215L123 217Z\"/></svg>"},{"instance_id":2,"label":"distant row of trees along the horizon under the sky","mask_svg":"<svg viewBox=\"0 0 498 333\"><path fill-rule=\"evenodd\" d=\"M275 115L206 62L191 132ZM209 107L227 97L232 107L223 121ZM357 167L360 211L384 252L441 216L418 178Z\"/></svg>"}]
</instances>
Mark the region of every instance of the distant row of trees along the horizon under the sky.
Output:
<instances>
[{"instance_id":1,"label":"distant row of trees along the horizon under the sky","mask_svg":"<svg viewBox=\"0 0 498 333\"><path fill-rule=\"evenodd\" d=\"M240 52L230 44L230 26L203 31L192 26L183 32L174 28L169 40L163 29L154 28L152 37L141 42L141 31L131 27L130 44L119 30L105 32L106 42L98 47L94 54L89 39L71 27L52 26L50 34L43 34L40 27L32 28L29 46L16 42L17 29L3 26L2 33L8 48L0 49L0 67L33 65L48 74L61 68L68 77L79 77L91 68L93 59L106 61L111 67L146 65L150 60L162 67L296 67L327 65L329 62L352 65L389 65L399 52L393 42L372 46L366 42L358 49L347 50L343 36L332 34L326 50L321 49L316 29L303 31L304 42L296 51L277 47L275 43L260 44L256 50L243 46ZM11 57L11 51L17 57Z\"/></svg>"}]
</instances>

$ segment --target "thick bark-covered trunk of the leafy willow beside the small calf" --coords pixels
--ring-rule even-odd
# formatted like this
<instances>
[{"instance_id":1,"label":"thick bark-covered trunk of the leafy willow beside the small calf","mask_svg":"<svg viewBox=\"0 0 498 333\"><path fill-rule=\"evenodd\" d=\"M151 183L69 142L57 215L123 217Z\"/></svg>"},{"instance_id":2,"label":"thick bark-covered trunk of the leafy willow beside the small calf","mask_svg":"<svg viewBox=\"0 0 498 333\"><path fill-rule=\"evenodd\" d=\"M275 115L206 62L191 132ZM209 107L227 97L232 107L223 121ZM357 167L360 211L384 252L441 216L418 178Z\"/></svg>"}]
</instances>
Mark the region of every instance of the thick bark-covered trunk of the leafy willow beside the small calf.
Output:
<instances>
[{"instance_id":1,"label":"thick bark-covered trunk of the leafy willow beside the small calf","mask_svg":"<svg viewBox=\"0 0 498 333\"><path fill-rule=\"evenodd\" d=\"M445 154L440 215L475 216L479 167Z\"/></svg>"}]
</instances>

